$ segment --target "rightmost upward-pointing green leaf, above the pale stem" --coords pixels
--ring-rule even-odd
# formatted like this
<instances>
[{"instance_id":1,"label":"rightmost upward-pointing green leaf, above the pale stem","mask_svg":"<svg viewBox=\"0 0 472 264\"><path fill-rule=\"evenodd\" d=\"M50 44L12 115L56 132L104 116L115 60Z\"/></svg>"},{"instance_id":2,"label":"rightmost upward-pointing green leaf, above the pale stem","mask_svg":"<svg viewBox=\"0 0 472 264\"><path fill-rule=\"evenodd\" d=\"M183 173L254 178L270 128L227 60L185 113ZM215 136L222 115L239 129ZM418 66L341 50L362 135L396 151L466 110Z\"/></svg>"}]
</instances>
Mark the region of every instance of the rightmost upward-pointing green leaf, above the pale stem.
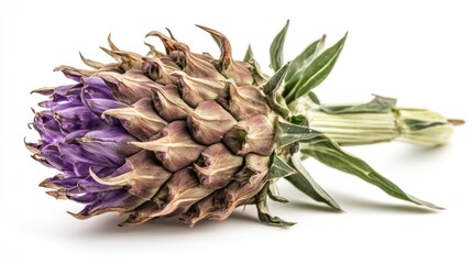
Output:
<instances>
[{"instance_id":1,"label":"rightmost upward-pointing green leaf, above the pale stem","mask_svg":"<svg viewBox=\"0 0 472 264\"><path fill-rule=\"evenodd\" d=\"M296 74L287 80L283 94L287 105L308 94L328 77L344 46L347 36L348 34L333 46L317 56L303 73Z\"/></svg>"}]
</instances>

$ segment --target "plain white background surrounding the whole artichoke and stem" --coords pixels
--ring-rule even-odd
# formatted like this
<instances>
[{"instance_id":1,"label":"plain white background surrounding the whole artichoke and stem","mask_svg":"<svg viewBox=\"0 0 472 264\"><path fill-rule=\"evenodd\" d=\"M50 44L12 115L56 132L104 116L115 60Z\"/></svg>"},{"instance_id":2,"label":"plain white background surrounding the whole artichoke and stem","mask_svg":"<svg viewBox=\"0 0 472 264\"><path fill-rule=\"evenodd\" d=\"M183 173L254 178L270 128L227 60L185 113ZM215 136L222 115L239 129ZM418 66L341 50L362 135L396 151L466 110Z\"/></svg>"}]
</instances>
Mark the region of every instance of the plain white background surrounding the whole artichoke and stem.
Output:
<instances>
[{"instance_id":1,"label":"plain white background surrounding the whole artichoke and stem","mask_svg":"<svg viewBox=\"0 0 472 264\"><path fill-rule=\"evenodd\" d=\"M355 2L355 3L354 3ZM375 187L308 161L316 179L341 204L334 213L290 186L288 205L272 211L298 224L263 226L255 210L188 229L176 220L118 228L114 215L79 221L72 201L56 201L37 184L54 175L30 158L23 138L43 99L33 88L67 80L52 69L81 66L78 51L98 61L108 33L123 50L146 52L151 30L174 31L194 51L217 48L202 24L226 33L242 57L249 43L268 64L268 45L287 19L286 58L328 34L349 37L337 66L318 87L325 101L399 98L448 117L471 117L472 15L468 1L1 1L0 263L471 263L471 127L450 144L403 143L351 147L406 191L447 208L433 212L393 199ZM157 43L156 40L150 42ZM266 67L265 67L266 68ZM298 258L296 258L298 257Z\"/></svg>"}]
</instances>

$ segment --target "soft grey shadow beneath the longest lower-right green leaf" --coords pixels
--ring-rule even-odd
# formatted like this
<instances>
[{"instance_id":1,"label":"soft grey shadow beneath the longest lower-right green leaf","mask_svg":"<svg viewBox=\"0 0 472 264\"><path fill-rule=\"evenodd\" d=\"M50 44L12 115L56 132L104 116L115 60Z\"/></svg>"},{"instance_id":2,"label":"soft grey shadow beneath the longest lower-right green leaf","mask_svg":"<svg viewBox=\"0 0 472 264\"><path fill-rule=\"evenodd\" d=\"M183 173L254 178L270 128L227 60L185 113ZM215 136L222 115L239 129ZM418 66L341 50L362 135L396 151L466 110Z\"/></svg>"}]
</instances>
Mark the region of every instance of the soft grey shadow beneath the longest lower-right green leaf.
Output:
<instances>
[{"instance_id":1,"label":"soft grey shadow beneath the longest lower-right green leaf","mask_svg":"<svg viewBox=\"0 0 472 264\"><path fill-rule=\"evenodd\" d=\"M333 197L340 205L343 205L345 210L349 208L365 208L382 212L395 212L395 213L437 213L438 210L432 210L426 207L415 205L398 205L389 202L381 202L375 200L369 200L361 197L347 195L347 194L333 194Z\"/></svg>"}]
</instances>

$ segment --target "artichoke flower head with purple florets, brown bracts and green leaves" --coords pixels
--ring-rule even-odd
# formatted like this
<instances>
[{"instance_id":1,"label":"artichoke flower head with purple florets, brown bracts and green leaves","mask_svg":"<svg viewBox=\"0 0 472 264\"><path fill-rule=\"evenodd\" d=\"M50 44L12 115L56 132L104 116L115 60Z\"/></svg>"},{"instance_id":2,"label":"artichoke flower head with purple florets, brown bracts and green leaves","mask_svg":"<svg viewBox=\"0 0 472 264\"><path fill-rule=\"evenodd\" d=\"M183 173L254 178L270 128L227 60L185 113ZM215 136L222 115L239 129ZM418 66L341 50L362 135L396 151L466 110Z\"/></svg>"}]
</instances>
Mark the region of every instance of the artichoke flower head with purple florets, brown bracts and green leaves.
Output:
<instances>
[{"instance_id":1,"label":"artichoke flower head with purple florets, brown bracts and green leaves","mask_svg":"<svg viewBox=\"0 0 472 264\"><path fill-rule=\"evenodd\" d=\"M267 198L287 201L278 195L281 178L341 210L303 168L304 155L396 198L438 208L407 195L290 112L287 106L329 74L345 36L326 51L323 36L283 65L287 25L271 46L272 77L261 72L251 50L235 61L227 37L205 26L199 28L220 46L218 58L153 31L147 36L158 37L165 52L150 44L146 56L124 52L109 37L110 48L102 50L117 63L80 55L92 69L56 68L72 85L33 91L48 99L32 122L41 139L26 146L34 160L59 170L41 186L55 198L84 204L70 213L78 219L114 211L129 216L122 226L178 217L193 227L255 205L261 221L285 227L294 223L267 209Z\"/></svg>"}]
</instances>

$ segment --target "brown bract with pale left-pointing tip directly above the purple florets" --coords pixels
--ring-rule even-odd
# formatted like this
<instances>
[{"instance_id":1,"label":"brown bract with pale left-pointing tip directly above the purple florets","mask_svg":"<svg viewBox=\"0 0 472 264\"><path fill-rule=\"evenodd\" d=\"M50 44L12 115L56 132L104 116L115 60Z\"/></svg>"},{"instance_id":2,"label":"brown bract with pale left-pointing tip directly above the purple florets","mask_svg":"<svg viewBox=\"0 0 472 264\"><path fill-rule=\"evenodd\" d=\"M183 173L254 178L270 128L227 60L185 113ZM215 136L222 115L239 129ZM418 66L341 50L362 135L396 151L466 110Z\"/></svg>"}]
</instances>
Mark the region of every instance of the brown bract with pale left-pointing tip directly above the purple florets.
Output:
<instances>
[{"instance_id":1,"label":"brown bract with pale left-pointing tip directly above the purple florets","mask_svg":"<svg viewBox=\"0 0 472 264\"><path fill-rule=\"evenodd\" d=\"M152 96L150 86L152 80L140 70L128 70L124 74L99 72L100 77L111 88L113 96L121 102L132 105L141 98Z\"/></svg>"}]
</instances>

